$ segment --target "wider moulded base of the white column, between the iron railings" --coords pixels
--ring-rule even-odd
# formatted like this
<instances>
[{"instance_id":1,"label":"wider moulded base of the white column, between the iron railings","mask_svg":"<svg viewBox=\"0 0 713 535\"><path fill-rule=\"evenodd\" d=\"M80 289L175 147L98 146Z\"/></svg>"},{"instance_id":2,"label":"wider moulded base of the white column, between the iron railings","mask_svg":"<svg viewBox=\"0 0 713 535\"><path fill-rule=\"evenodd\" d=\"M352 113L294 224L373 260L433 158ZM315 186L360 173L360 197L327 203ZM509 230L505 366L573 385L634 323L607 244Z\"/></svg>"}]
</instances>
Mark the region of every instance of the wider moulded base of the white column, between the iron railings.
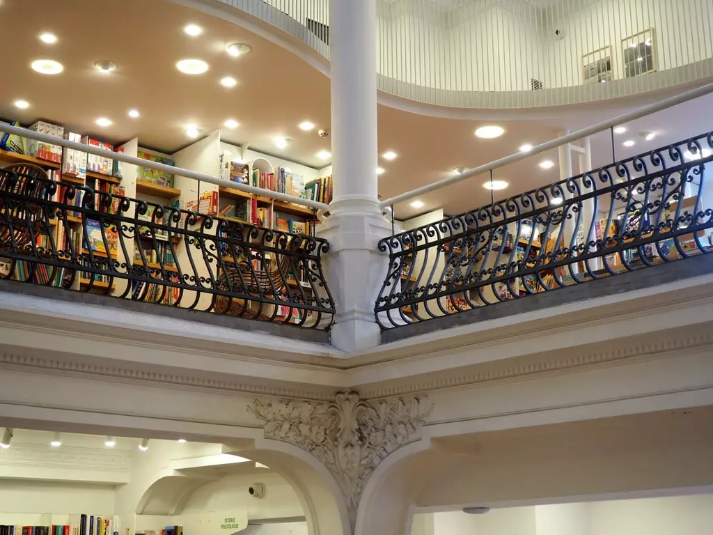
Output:
<instances>
[{"instance_id":1,"label":"wider moulded base of the white column, between the iron railings","mask_svg":"<svg viewBox=\"0 0 713 535\"><path fill-rule=\"evenodd\" d=\"M324 269L337 308L332 345L346 353L360 352L381 343L374 307L389 256L379 252L379 240L391 235L391 223L372 198L335 200L329 211L317 234L329 240Z\"/></svg>"}]
</instances>

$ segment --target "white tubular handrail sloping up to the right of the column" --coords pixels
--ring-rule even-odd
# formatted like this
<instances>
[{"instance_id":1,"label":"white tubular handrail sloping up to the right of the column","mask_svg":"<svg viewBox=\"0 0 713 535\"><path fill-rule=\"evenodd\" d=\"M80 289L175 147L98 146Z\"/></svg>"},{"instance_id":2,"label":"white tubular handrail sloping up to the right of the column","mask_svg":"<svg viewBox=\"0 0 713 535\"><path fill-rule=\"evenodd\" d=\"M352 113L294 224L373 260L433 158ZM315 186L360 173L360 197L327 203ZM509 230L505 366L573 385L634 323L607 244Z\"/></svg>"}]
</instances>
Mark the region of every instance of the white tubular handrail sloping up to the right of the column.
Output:
<instances>
[{"instance_id":1,"label":"white tubular handrail sloping up to the right of the column","mask_svg":"<svg viewBox=\"0 0 713 535\"><path fill-rule=\"evenodd\" d=\"M489 171L491 169L503 167L503 165L508 165L510 163L515 163L520 160L524 160L525 158L530 158L530 156L533 156L535 154L549 151L550 148L557 148L559 146L565 145L565 143L572 143L573 141L578 141L582 138L586 138L587 136L592 136L595 133L605 131L607 130L607 128L612 128L612 126L617 126L622 123L627 123L628 121L633 121L634 119L650 115L651 113L656 113L657 111L665 110L666 108L676 106L677 104L693 100L694 98L698 98L699 96L707 95L708 93L713 93L713 83L709 83L707 86L701 86L699 88L692 89L691 91L686 91L685 93L680 93L679 95L672 96L671 98L666 98L665 100L650 104L649 106L644 106L643 108L639 108L635 111L624 113L620 116L616 116L615 118L608 119L607 121L602 121L601 123L597 123L593 126L588 126L587 128L583 128L582 130L567 134L566 136L555 138L553 140L533 147L531 151L528 151L526 153L511 154L510 156L499 158L498 160L492 161L491 163L479 165L478 167L468 170L465 173L461 173L460 175L443 178L443 180L438 180L438 182L434 182L429 185L424 185L421 188L416 188L415 190L407 191L406 193L401 193L401 195L396 195L396 197L391 197L389 199L384 200L384 202L381 203L381 208L386 208L387 206L395 205L397 203L403 203L405 200L418 197L419 195L423 195L424 193L429 193L431 191L444 188L447 185L455 184L461 182L462 180L467 180L468 178L480 175L481 173L486 173L486 171Z\"/></svg>"}]
</instances>

